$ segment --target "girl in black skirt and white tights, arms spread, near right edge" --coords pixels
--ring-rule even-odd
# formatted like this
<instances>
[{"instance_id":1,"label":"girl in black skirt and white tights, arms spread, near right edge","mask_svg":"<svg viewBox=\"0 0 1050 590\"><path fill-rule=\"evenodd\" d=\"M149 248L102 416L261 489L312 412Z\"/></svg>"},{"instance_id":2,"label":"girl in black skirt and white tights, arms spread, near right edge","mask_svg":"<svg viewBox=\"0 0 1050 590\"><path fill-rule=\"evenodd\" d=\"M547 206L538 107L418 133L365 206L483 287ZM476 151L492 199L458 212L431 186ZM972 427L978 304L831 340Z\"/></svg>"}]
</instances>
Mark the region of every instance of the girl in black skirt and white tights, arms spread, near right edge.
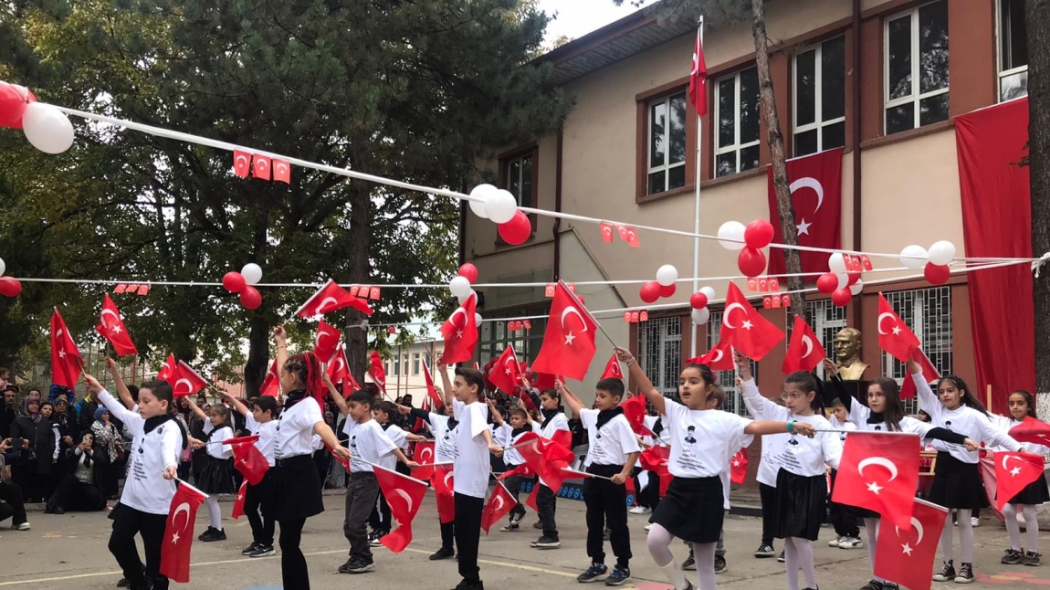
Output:
<instances>
[{"instance_id":1,"label":"girl in black skirt and white tights, arms spread, near right edge","mask_svg":"<svg viewBox=\"0 0 1050 590\"><path fill-rule=\"evenodd\" d=\"M931 424L960 433L970 439L992 443L1007 450L1021 450L1021 443L1009 435L992 426L984 405L973 397L966 383L954 375L943 377L938 382L938 395L933 395L929 383L923 378L922 367L914 359L908 360L908 371L919 391L919 403L929 414ZM952 526L945 520L941 532L941 552L944 567L933 574L933 582L969 584L973 582L973 525L972 510L988 506L978 454L958 445L933 442L937 449L937 472L929 490L929 501L945 508L954 508L959 520L960 568L956 571L952 560Z\"/></svg>"}]
</instances>

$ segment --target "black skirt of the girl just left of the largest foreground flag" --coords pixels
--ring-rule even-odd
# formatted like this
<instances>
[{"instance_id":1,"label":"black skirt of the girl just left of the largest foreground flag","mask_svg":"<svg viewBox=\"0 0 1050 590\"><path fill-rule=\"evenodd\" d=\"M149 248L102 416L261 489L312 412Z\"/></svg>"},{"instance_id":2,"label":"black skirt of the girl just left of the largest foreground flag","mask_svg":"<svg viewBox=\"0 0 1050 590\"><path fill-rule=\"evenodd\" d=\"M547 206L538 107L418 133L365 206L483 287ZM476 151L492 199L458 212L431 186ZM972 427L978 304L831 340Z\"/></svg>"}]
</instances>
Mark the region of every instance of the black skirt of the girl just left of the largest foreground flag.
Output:
<instances>
[{"instance_id":1,"label":"black skirt of the girl just left of the largest foreground flag","mask_svg":"<svg viewBox=\"0 0 1050 590\"><path fill-rule=\"evenodd\" d=\"M816 541L826 499L825 476L799 476L781 468L777 471L777 496L773 503L773 536Z\"/></svg>"}]
</instances>

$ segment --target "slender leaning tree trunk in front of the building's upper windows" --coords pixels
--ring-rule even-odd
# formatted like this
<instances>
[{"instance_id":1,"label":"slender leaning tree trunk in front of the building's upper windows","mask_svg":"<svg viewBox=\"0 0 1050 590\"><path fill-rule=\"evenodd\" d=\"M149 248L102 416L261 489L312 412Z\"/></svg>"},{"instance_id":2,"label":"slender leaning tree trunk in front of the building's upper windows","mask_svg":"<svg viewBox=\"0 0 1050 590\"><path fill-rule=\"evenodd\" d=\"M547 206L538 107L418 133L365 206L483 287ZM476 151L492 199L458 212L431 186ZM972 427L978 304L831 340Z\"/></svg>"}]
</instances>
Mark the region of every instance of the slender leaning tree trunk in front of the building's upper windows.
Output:
<instances>
[{"instance_id":1,"label":"slender leaning tree trunk in front of the building's upper windows","mask_svg":"<svg viewBox=\"0 0 1050 590\"><path fill-rule=\"evenodd\" d=\"M758 70L758 90L769 130L770 155L773 160L773 188L777 193L777 211L780 213L780 230L784 244L798 245L798 229L795 227L795 211L792 209L791 189L788 185L788 164L784 155L784 136L780 132L777 117L777 100L773 94L773 80L770 77L769 39L765 37L765 8L763 0L751 0L754 20L751 31L755 37L755 64ZM788 273L788 290L792 291L791 305L795 313L805 315L805 296L802 290L802 262L798 250L784 250L784 268Z\"/></svg>"}]
</instances>

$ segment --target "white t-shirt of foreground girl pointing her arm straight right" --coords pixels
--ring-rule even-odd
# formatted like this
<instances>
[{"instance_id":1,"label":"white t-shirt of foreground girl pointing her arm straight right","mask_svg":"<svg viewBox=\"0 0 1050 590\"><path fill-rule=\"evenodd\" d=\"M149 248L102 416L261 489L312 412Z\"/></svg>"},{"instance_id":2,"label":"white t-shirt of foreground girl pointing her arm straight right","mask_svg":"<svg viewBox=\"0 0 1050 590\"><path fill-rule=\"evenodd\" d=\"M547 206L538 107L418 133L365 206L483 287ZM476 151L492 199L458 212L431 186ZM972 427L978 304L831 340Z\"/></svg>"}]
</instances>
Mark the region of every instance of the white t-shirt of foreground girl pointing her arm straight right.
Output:
<instances>
[{"instance_id":1,"label":"white t-shirt of foreground girl pointing her arm straight right","mask_svg":"<svg viewBox=\"0 0 1050 590\"><path fill-rule=\"evenodd\" d=\"M670 399L664 406L664 440L671 445L668 471L676 478L718 477L752 422L720 409L689 409Z\"/></svg>"}]
</instances>

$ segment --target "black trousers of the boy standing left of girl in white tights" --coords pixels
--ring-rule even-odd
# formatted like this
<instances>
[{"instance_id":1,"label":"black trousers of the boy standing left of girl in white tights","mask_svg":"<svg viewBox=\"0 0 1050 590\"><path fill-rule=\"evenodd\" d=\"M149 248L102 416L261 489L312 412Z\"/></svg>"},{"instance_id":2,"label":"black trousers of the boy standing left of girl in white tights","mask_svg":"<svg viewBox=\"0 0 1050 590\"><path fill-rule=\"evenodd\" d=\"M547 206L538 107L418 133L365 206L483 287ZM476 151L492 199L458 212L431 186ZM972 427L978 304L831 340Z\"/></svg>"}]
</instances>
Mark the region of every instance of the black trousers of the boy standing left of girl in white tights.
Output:
<instances>
[{"instance_id":1,"label":"black trousers of the boy standing left of girl in white tights","mask_svg":"<svg viewBox=\"0 0 1050 590\"><path fill-rule=\"evenodd\" d=\"M620 465L591 465L588 473L611 478ZM631 535L627 530L627 488L609 480L584 480L584 504L587 506L587 555L591 563L605 563L603 536L609 527L609 543L616 555L616 567L627 569L631 561Z\"/></svg>"}]
</instances>

